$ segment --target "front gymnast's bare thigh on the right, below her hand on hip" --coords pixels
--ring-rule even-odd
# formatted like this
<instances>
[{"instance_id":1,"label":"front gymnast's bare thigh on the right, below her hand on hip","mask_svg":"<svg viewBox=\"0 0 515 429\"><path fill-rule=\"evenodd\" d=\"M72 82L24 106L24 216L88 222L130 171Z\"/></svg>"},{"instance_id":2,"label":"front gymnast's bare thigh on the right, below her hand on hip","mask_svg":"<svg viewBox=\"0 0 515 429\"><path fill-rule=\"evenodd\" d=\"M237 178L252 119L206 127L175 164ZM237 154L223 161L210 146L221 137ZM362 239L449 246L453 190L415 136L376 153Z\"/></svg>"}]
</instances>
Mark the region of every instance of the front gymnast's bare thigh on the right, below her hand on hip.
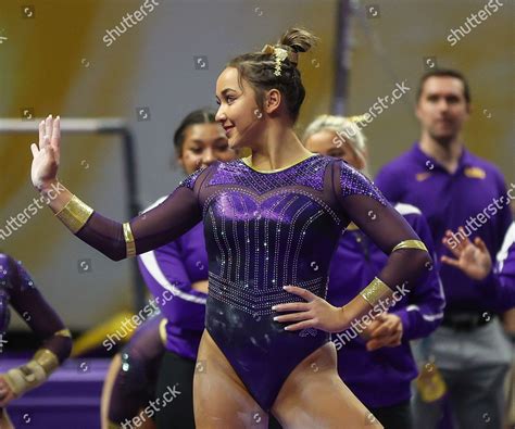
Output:
<instances>
[{"instance_id":1,"label":"front gymnast's bare thigh on the right, below her hand on hip","mask_svg":"<svg viewBox=\"0 0 515 429\"><path fill-rule=\"evenodd\" d=\"M331 342L314 351L291 371L272 413L285 429L382 428L339 377Z\"/></svg>"}]
</instances>

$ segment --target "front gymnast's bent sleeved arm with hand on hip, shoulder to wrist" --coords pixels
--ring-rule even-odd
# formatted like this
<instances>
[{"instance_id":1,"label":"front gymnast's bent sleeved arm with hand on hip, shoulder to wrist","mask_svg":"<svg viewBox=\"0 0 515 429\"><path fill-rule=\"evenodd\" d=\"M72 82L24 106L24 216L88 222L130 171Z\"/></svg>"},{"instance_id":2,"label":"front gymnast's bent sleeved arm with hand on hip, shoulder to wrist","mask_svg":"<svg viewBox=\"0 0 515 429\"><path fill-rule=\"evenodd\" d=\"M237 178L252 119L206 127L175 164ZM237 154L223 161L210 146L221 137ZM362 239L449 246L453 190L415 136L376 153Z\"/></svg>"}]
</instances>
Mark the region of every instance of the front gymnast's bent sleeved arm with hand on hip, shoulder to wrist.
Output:
<instances>
[{"instance_id":1,"label":"front gymnast's bent sleeved arm with hand on hip, shoulder to wrist","mask_svg":"<svg viewBox=\"0 0 515 429\"><path fill-rule=\"evenodd\" d=\"M336 166L335 166L336 164ZM334 164L334 189L342 216L360 227L388 257L376 278L344 307L350 319L385 312L432 268L426 245L407 222L361 173L344 162Z\"/></svg>"}]
</instances>

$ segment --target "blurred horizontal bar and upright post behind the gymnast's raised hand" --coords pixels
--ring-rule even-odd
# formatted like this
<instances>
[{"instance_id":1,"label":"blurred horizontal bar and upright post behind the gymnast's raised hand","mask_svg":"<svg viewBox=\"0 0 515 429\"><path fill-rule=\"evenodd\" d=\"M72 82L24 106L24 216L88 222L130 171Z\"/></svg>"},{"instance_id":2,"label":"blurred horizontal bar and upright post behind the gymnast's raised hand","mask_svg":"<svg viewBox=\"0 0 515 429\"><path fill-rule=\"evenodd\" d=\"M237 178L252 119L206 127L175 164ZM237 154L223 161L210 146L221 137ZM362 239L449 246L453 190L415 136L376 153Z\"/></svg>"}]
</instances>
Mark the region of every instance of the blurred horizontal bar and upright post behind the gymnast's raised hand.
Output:
<instances>
[{"instance_id":1,"label":"blurred horizontal bar and upright post behind the gymnast's raised hand","mask_svg":"<svg viewBox=\"0 0 515 429\"><path fill-rule=\"evenodd\" d=\"M22 133L38 133L38 124L43 118L27 118L27 119L2 119L0 118L0 134L22 134ZM66 118L61 119L61 130L63 133L74 134L114 134L122 137L123 154L124 154L124 171L127 182L128 192L128 212L129 216L137 216L140 211L138 201L138 186L137 186L137 169L134 138L125 119L117 117L105 118ZM28 146L27 146L28 149ZM134 279L134 305L136 311L142 308L145 305L145 290L146 287L139 275L138 262L133 258L133 279Z\"/></svg>"}]
</instances>

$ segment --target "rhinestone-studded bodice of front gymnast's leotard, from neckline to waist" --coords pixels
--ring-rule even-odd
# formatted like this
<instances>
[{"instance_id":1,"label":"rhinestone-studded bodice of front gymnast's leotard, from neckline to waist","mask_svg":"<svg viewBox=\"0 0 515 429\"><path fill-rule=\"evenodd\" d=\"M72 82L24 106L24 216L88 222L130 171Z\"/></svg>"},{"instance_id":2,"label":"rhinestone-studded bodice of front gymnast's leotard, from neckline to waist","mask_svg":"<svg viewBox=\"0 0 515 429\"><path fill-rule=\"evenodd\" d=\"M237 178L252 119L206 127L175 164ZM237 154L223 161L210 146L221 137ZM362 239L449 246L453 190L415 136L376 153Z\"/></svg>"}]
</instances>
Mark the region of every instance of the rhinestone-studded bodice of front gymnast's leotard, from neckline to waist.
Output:
<instances>
[{"instance_id":1,"label":"rhinestone-studded bodice of front gymnast's leotard, from neckline to waist","mask_svg":"<svg viewBox=\"0 0 515 429\"><path fill-rule=\"evenodd\" d=\"M261 317L271 315L273 305L302 301L286 292L286 285L325 296L330 254L348 220L337 200L360 194L386 204L365 176L339 163L314 155L280 172L261 173L237 160L212 166L200 187L200 172L183 181L199 189L212 299Z\"/></svg>"}]
</instances>

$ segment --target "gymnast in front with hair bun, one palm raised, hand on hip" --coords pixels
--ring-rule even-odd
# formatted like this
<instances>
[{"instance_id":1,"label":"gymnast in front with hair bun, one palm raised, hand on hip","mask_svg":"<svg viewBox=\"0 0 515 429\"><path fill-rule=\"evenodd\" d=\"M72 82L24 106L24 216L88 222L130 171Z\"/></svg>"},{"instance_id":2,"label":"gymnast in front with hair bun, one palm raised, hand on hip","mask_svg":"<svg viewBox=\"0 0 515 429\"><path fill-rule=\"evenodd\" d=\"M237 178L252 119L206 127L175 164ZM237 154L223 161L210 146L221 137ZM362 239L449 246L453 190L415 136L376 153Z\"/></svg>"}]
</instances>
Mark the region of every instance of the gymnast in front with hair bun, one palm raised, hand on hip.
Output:
<instances>
[{"instance_id":1,"label":"gymnast in front with hair bun, one palm raised, hand on hip","mask_svg":"<svg viewBox=\"0 0 515 429\"><path fill-rule=\"evenodd\" d=\"M205 330L193 379L197 428L380 427L338 376L329 332L340 332L415 282L424 244L377 188L342 160L307 151L293 131L305 91L297 64L315 42L291 28L275 46L230 61L216 81L234 150L161 204L124 224L81 202L56 178L60 119L33 144L32 178L76 237L113 261L149 252L203 222L209 258ZM325 301L331 255L350 223L389 254L377 277L343 307Z\"/></svg>"}]
</instances>

